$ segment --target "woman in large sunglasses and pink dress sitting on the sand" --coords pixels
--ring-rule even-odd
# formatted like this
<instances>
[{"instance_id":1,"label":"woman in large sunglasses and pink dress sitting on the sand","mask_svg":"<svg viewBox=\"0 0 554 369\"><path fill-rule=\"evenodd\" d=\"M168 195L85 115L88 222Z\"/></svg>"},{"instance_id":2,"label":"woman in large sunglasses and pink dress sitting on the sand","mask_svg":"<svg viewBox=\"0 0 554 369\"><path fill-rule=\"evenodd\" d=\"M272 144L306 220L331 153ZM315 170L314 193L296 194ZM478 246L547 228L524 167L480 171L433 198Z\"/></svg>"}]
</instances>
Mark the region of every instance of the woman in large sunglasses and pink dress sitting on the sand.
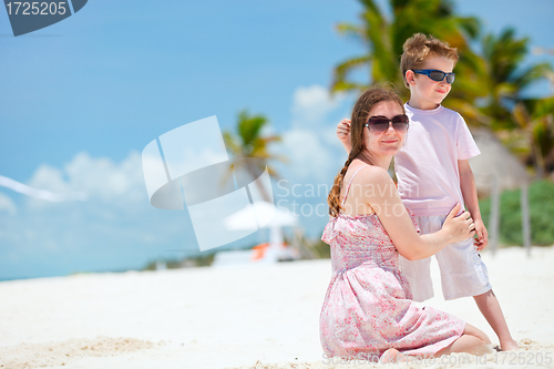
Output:
<instances>
[{"instance_id":1,"label":"woman in large sunglasses and pink dress sitting on the sand","mask_svg":"<svg viewBox=\"0 0 554 369\"><path fill-rule=\"evenodd\" d=\"M398 267L398 254L425 258L475 233L468 212L455 216L458 204L440 232L418 235L387 172L408 131L401 100L389 90L366 91L353 107L350 130L352 151L329 193L331 219L321 238L331 246L334 271L320 315L325 353L388 361L486 352L490 340L481 330L418 308Z\"/></svg>"}]
</instances>

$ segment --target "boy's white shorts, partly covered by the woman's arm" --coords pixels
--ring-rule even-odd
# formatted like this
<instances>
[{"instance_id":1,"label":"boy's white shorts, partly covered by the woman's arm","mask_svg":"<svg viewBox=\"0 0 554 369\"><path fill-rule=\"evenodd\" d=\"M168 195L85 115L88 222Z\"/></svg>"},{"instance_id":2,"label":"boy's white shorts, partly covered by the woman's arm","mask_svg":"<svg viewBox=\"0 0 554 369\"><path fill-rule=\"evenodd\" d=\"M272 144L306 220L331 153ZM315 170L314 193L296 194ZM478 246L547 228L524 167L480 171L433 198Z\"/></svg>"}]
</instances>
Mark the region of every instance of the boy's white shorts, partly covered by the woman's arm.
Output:
<instances>
[{"instance_id":1,"label":"boy's white shorts, partly covered by the woman's arm","mask_svg":"<svg viewBox=\"0 0 554 369\"><path fill-rule=\"evenodd\" d=\"M422 235L440 230L445 218L445 215L416 217ZM444 299L478 296L492 288L486 266L473 245L473 237L450 244L434 256L441 269ZM400 256L400 267L410 283L414 301L424 301L433 297L430 265L431 257L410 262Z\"/></svg>"}]
</instances>

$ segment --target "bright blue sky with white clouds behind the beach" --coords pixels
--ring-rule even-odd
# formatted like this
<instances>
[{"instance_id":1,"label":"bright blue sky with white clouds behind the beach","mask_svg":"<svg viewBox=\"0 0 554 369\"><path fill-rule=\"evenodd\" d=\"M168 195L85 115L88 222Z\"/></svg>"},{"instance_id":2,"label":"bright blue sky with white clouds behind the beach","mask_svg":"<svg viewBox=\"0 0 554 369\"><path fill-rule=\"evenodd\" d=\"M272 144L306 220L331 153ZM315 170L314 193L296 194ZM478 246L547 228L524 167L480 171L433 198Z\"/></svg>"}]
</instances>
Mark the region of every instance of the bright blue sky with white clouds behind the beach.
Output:
<instances>
[{"instance_id":1,"label":"bright blue sky with white clouds behind the beach","mask_svg":"<svg viewBox=\"0 0 554 369\"><path fill-rule=\"evenodd\" d=\"M488 31L514 27L531 45L554 48L552 1L456 4ZM306 194L308 184L330 184L346 156L335 125L351 98L326 89L332 66L362 51L334 27L355 22L359 10L353 0L90 0L18 38L0 10L0 175L90 196L53 204L0 187L0 279L138 268L182 256L167 249L197 249L186 212L150 206L140 153L206 116L230 129L242 109L267 115L285 137L276 151L291 158L279 167L288 185ZM304 201L325 201L316 195ZM325 222L302 216L312 236Z\"/></svg>"}]
</instances>

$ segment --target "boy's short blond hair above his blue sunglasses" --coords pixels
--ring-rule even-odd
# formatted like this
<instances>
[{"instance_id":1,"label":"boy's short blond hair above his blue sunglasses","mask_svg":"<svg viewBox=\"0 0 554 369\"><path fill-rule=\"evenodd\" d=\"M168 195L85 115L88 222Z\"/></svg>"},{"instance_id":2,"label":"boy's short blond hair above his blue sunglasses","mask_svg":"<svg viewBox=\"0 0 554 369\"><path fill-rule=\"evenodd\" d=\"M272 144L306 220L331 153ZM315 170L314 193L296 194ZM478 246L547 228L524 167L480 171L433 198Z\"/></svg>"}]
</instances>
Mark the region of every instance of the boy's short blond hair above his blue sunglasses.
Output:
<instances>
[{"instance_id":1,"label":"boy's short blond hair above his blue sunglasses","mask_svg":"<svg viewBox=\"0 0 554 369\"><path fill-rule=\"evenodd\" d=\"M425 60L432 57L443 57L458 62L458 51L455 48L450 48L447 42L442 42L432 35L416 33L406 40L402 48L404 52L400 59L400 70L402 71L402 81L409 89L410 85L406 81L406 72L411 69L421 69Z\"/></svg>"}]
</instances>

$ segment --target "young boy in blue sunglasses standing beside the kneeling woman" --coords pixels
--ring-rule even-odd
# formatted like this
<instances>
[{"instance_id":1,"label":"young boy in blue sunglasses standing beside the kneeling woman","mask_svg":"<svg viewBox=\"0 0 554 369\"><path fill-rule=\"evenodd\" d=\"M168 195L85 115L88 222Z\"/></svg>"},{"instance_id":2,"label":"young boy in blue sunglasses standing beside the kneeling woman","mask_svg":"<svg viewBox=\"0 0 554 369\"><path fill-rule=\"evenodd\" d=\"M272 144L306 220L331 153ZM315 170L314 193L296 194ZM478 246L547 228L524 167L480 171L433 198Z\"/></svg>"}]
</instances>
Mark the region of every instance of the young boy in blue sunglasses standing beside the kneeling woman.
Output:
<instances>
[{"instance_id":1,"label":"young boy in blue sunglasses standing beside the kneeling woman","mask_svg":"<svg viewBox=\"0 0 554 369\"><path fill-rule=\"evenodd\" d=\"M486 267L478 253L486 246L488 233L468 160L479 155L480 151L461 115L441 105L454 81L452 70L458 62L458 52L422 33L408 39L403 51L400 63L404 85L410 90L410 100L404 104L410 127L403 148L394 157L400 196L416 214L422 234L439 230L450 209L456 203L465 203L479 238L451 244L435 255L443 296L447 300L473 296L499 336L501 349L516 349L517 344L510 335L499 300L489 284ZM347 152L351 148L349 130L349 120L343 120L337 127L337 135ZM431 258L414 262L400 258L413 299L431 298Z\"/></svg>"}]
</instances>

